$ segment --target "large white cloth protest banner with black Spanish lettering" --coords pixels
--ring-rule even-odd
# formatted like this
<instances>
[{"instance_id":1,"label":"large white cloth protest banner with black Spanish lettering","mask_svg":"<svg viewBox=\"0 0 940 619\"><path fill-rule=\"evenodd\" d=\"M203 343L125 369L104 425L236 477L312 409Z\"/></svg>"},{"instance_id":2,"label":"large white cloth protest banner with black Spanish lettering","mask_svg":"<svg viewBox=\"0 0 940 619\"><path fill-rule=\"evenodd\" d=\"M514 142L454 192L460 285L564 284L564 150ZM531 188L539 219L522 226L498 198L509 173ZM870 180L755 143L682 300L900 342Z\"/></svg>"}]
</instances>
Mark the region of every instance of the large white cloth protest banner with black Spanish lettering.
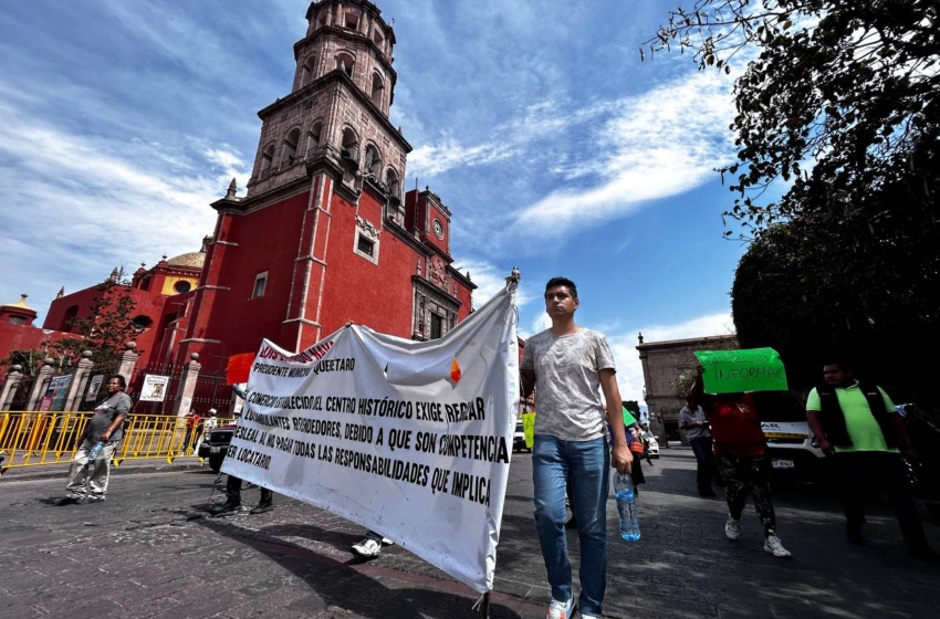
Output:
<instances>
[{"instance_id":1,"label":"large white cloth protest banner with black Spanish lettering","mask_svg":"<svg viewBox=\"0 0 940 619\"><path fill-rule=\"evenodd\" d=\"M519 407L514 296L431 342L357 325L300 354L265 340L222 471L490 590Z\"/></svg>"}]
</instances>

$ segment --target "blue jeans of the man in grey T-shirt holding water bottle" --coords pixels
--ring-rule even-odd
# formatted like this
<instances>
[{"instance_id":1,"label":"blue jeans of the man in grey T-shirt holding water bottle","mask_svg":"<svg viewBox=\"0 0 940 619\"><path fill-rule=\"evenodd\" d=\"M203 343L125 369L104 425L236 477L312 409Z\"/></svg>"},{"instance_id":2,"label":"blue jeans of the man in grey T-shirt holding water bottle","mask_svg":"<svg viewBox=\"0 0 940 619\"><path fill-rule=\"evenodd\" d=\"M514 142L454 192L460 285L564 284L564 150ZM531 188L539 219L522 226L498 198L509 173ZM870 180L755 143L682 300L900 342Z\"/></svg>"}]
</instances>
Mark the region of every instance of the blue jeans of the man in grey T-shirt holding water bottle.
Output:
<instances>
[{"instance_id":1,"label":"blue jeans of the man in grey T-shirt holding water bottle","mask_svg":"<svg viewBox=\"0 0 940 619\"><path fill-rule=\"evenodd\" d=\"M563 441L536 434L532 447L532 482L535 486L535 529L549 571L552 598L572 597L571 562L565 537L565 482L571 476L571 507L581 541L582 612L600 616L607 588L607 494L610 487L610 452L607 440Z\"/></svg>"}]
</instances>

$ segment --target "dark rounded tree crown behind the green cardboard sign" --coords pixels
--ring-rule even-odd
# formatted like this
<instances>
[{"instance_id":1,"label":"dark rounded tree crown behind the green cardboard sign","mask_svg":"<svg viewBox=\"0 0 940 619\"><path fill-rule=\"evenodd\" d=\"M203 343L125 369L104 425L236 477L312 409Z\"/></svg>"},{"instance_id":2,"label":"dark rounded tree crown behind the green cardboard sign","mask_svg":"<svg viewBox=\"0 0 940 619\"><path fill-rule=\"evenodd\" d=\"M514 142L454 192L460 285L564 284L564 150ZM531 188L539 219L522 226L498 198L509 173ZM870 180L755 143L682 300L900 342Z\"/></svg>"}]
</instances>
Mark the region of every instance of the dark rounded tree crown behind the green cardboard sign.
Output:
<instances>
[{"instance_id":1,"label":"dark rounded tree crown behind the green cardboard sign","mask_svg":"<svg viewBox=\"0 0 940 619\"><path fill-rule=\"evenodd\" d=\"M731 291L738 339L776 349L795 389L819 382L823 364L836 356L855 360L896 399L934 401L933 367L907 363L940 345L940 321L921 314L919 295L928 291L882 293L908 285L909 264L891 243L861 253L850 233L775 224L751 243Z\"/></svg>"}]
</instances>

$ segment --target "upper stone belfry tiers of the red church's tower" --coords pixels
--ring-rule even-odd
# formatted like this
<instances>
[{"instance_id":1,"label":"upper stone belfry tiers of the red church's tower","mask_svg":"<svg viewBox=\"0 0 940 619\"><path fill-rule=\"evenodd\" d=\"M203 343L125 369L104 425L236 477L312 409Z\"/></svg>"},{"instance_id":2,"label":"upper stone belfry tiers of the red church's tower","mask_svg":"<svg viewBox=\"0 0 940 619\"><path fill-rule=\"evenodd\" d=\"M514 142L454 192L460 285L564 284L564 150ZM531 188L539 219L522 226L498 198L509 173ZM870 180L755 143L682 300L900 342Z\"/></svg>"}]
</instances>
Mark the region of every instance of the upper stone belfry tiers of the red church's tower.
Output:
<instances>
[{"instance_id":1,"label":"upper stone belfry tiers of the red church's tower","mask_svg":"<svg viewBox=\"0 0 940 619\"><path fill-rule=\"evenodd\" d=\"M403 222L401 179L410 145L388 120L397 75L395 32L365 0L321 0L294 44L291 93L261 112L263 123L248 197L328 169L355 200L369 182Z\"/></svg>"}]
</instances>

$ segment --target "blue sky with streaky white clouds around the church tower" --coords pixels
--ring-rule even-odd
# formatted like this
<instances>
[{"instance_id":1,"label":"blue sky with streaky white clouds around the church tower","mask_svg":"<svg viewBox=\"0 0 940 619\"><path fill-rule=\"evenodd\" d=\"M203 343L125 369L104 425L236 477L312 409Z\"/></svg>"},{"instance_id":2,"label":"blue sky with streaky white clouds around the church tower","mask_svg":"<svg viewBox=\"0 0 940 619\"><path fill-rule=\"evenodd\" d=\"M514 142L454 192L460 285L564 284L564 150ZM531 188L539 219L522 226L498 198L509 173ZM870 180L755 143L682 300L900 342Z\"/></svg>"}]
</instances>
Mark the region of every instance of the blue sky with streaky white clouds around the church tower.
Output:
<instances>
[{"instance_id":1,"label":"blue sky with streaky white clouds around the church tower","mask_svg":"<svg viewBox=\"0 0 940 619\"><path fill-rule=\"evenodd\" d=\"M28 293L41 321L60 286L198 250L209 203L232 177L243 195L258 109L290 92L307 4L0 3L0 303ZM452 211L474 304L519 266L526 336L547 325L544 282L571 277L625 399L641 398L638 332L733 332L744 250L722 239L733 195L712 171L734 159L732 80L688 54L639 59L673 4L377 1L406 186Z\"/></svg>"}]
</instances>

